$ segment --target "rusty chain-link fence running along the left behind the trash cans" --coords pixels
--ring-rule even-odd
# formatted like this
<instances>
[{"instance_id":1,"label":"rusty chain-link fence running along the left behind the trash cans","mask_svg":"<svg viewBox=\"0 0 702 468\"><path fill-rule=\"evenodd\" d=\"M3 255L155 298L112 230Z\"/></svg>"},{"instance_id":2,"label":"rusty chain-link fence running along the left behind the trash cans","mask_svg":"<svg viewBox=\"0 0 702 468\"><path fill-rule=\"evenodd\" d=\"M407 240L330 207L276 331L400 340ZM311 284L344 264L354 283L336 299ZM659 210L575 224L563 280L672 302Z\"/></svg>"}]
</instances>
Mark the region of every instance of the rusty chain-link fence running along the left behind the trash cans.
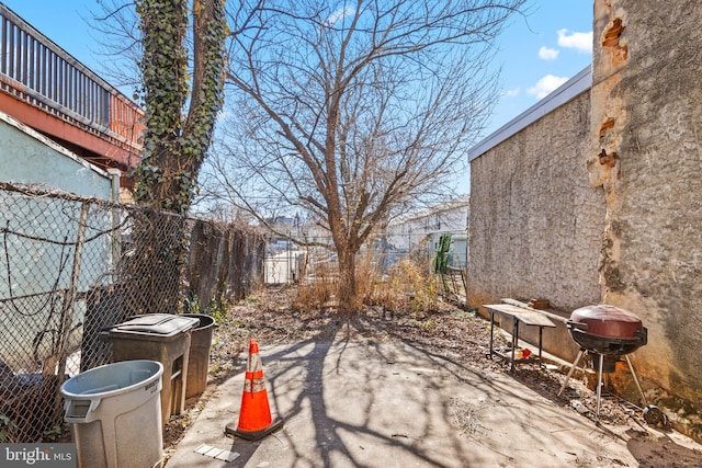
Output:
<instances>
[{"instance_id":1,"label":"rusty chain-link fence running along the left behind the trash cans","mask_svg":"<svg viewBox=\"0 0 702 468\"><path fill-rule=\"evenodd\" d=\"M242 297L262 246L244 228L0 185L0 443L52 441L60 385L110 362L102 329Z\"/></svg>"}]
</instances>

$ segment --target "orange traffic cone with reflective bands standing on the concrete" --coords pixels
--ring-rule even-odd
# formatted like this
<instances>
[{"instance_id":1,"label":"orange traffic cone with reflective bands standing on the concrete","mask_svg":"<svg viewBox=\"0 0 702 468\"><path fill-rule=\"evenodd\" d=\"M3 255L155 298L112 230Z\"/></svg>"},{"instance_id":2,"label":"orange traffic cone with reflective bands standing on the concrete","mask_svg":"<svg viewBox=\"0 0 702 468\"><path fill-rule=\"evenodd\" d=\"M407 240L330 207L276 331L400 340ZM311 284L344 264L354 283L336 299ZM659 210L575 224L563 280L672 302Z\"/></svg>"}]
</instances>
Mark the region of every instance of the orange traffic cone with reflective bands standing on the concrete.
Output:
<instances>
[{"instance_id":1,"label":"orange traffic cone with reflective bands standing on the concrete","mask_svg":"<svg viewBox=\"0 0 702 468\"><path fill-rule=\"evenodd\" d=\"M263 366L259 356L259 344L256 340L251 340L249 342L249 358L246 364L239 423L236 427L234 424L227 424L225 433L247 441L258 441L281 429L283 422L282 419L273 421L271 418Z\"/></svg>"}]
</instances>

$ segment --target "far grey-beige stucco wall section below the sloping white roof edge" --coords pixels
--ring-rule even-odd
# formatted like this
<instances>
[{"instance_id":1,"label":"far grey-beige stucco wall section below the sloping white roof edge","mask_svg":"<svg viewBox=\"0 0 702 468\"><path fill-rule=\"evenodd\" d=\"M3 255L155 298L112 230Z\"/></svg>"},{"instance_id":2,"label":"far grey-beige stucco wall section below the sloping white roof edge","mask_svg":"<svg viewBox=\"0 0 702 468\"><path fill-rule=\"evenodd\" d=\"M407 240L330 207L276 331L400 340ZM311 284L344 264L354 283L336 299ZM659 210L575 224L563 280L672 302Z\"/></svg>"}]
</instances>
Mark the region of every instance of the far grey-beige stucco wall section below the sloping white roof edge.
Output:
<instances>
[{"instance_id":1,"label":"far grey-beige stucco wall section below the sloping white roof edge","mask_svg":"<svg viewBox=\"0 0 702 468\"><path fill-rule=\"evenodd\" d=\"M586 91L471 162L471 306L545 298L570 311L599 303L604 197L584 162L589 115Z\"/></svg>"}]
</instances>

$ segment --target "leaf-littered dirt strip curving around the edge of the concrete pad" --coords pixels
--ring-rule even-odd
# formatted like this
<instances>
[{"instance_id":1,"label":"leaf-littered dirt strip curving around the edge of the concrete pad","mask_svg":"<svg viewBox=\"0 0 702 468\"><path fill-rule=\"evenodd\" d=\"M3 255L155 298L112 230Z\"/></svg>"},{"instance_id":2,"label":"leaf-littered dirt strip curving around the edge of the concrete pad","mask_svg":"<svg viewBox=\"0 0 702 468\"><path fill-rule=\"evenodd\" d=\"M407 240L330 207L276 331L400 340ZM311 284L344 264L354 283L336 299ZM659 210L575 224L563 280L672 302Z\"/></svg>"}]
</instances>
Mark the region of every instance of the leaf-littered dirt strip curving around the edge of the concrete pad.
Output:
<instances>
[{"instance_id":1,"label":"leaf-littered dirt strip curving around the edge of the concrete pad","mask_svg":"<svg viewBox=\"0 0 702 468\"><path fill-rule=\"evenodd\" d=\"M509 373L503 362L488 357L489 322L454 305L444 304L440 310L423 315L389 313L374 307L356 315L333 310L299 312L290 306L291 294L294 289L268 288L230 307L227 321L220 323L214 333L207 390L200 398L189 400L185 413L171 416L165 429L167 457L202 410L208 393L241 372L241 354L246 353L251 338L267 346L303 341L328 342L342 327L351 323L375 340L411 342L483 373ZM512 378L554 404L570 407L584 418L595 419L588 409L596 408L596 393L577 378L570 379L562 396L557 392L565 375L557 369L525 365L513 373ZM656 433L648 431L642 412L633 404L603 398L599 419L626 433L629 448L639 460L639 467L702 466L700 450L683 447L667 437L666 432L669 431L666 427L656 427Z\"/></svg>"}]
</instances>

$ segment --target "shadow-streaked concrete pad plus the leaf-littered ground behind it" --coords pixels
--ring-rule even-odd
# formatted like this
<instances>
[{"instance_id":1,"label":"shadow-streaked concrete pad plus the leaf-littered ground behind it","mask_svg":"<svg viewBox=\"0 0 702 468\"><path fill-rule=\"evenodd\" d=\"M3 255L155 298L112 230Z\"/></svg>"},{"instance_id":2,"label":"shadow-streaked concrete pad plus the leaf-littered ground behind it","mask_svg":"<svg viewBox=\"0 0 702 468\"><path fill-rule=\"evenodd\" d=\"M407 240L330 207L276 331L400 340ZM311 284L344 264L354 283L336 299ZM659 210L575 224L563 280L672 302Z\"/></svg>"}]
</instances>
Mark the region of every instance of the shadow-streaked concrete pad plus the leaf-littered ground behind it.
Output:
<instances>
[{"instance_id":1,"label":"shadow-streaked concrete pad plus the leaf-littered ground behind it","mask_svg":"<svg viewBox=\"0 0 702 468\"><path fill-rule=\"evenodd\" d=\"M632 418L597 426L569 404L589 390L554 398L559 374L507 373L486 355L480 318L376 310L286 319L274 327L293 343L259 339L268 397L284 427L258 442L224 436L240 410L239 355L169 467L223 466L193 454L202 443L238 454L227 467L702 466L699 452L661 441Z\"/></svg>"}]
</instances>

